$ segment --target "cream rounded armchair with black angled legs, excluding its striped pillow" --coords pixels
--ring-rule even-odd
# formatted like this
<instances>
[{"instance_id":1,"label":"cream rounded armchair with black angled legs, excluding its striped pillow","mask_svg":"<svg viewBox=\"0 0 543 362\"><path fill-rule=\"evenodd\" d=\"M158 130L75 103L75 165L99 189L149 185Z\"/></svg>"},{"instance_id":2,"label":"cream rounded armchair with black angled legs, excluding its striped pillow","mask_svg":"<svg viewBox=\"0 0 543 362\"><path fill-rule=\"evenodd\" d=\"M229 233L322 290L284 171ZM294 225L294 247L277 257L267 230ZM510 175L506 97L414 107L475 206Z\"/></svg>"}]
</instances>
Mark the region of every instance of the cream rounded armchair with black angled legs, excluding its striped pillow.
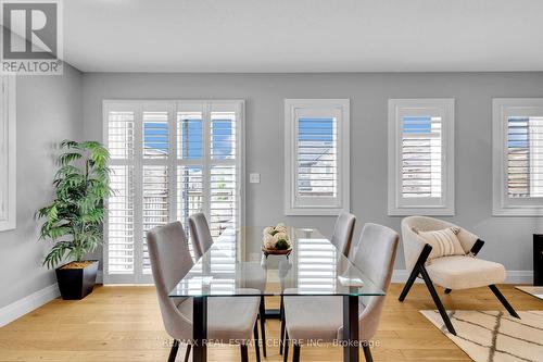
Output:
<instances>
[{"instance_id":1,"label":"cream rounded armchair with black angled legs, excluding its striped pillow","mask_svg":"<svg viewBox=\"0 0 543 362\"><path fill-rule=\"evenodd\" d=\"M432 247L426 244L415 230L431 232L445 229L447 227L459 228L459 233L456 236L458 237L465 254L431 259ZM400 301L405 300L415 279L421 277L449 332L456 335L456 330L433 285L437 284L445 288L445 294L450 294L453 289L469 289L488 286L509 314L519 317L495 286L505 280L505 267L500 263L476 258L477 253L484 245L484 241L479 239L477 235L439 219L409 216L402 221L402 240L405 265L406 269L411 271L411 275L400 295Z\"/></svg>"}]
</instances>

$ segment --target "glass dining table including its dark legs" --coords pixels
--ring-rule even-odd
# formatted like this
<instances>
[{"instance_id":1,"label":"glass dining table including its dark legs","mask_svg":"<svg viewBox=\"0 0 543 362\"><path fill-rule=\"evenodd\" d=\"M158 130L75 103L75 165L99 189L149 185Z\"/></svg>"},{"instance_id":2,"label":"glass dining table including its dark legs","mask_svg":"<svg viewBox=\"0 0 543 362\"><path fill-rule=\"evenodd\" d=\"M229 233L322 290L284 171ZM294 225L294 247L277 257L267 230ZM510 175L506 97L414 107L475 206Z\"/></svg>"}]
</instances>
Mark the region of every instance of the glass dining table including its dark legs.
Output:
<instances>
[{"instance_id":1,"label":"glass dining table including its dark legs","mask_svg":"<svg viewBox=\"0 0 543 362\"><path fill-rule=\"evenodd\" d=\"M289 227L288 255L238 250L240 240L261 245L263 229L225 230L169 292L171 298L192 298L192 361L207 360L207 299L255 296L341 296L343 361L358 361L358 297L384 291L315 228Z\"/></svg>"}]
</instances>

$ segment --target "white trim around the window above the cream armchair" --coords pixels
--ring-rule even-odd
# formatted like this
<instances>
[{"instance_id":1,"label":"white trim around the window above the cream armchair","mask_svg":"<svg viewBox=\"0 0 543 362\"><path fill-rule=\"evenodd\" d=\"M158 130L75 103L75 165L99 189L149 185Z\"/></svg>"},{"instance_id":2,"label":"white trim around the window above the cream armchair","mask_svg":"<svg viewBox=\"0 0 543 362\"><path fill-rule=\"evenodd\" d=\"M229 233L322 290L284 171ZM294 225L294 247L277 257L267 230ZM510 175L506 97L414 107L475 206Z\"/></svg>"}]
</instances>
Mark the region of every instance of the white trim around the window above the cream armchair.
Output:
<instances>
[{"instance_id":1,"label":"white trim around the window above the cream armchair","mask_svg":"<svg viewBox=\"0 0 543 362\"><path fill-rule=\"evenodd\" d=\"M454 215L454 104L453 98L389 99L389 215ZM442 202L439 204L402 204L402 110L437 110L443 120Z\"/></svg>"}]
</instances>

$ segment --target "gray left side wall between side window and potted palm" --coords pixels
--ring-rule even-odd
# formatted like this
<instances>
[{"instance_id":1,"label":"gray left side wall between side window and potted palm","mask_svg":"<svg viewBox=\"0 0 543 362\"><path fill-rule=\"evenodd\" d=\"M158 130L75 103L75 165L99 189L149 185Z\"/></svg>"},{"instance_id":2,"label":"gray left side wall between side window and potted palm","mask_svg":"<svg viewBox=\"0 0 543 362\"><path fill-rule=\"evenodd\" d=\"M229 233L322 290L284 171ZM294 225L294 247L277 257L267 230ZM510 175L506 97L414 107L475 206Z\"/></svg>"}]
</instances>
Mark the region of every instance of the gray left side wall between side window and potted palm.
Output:
<instances>
[{"instance_id":1,"label":"gray left side wall between side window and potted palm","mask_svg":"<svg viewBox=\"0 0 543 362\"><path fill-rule=\"evenodd\" d=\"M41 266L48 244L37 241L34 213L53 197L59 141L81 137L81 80L67 64L63 76L16 79L17 227L0 232L0 308L56 282Z\"/></svg>"}]
</instances>

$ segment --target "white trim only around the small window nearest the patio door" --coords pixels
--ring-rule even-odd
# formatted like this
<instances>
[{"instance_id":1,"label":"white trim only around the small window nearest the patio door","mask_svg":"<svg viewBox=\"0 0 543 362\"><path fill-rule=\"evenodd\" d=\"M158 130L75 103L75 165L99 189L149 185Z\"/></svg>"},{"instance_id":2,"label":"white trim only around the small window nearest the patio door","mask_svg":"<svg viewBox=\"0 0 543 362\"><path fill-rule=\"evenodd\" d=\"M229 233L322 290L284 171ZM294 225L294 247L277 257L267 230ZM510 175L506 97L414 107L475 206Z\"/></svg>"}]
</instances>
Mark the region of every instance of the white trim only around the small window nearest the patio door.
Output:
<instances>
[{"instance_id":1,"label":"white trim only around the small window nearest the patio door","mask_svg":"<svg viewBox=\"0 0 543 362\"><path fill-rule=\"evenodd\" d=\"M285 214L286 215L338 215L350 211L350 100L349 99L286 99L285 100ZM296 109L337 109L338 120L338 204L296 205Z\"/></svg>"}]
</instances>

